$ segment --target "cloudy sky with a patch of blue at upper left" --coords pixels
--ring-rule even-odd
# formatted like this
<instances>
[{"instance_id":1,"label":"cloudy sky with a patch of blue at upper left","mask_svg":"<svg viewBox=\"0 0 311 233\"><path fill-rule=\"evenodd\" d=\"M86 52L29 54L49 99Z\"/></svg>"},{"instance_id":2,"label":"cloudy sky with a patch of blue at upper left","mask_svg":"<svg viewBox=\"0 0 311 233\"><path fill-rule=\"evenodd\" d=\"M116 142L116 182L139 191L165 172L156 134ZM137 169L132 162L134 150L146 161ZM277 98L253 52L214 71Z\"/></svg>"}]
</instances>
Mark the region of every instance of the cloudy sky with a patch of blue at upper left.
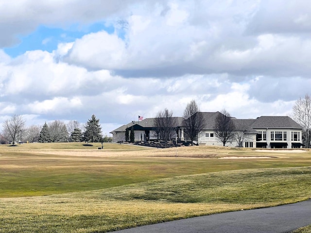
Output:
<instances>
[{"instance_id":1,"label":"cloudy sky with a patch of blue at upper left","mask_svg":"<svg viewBox=\"0 0 311 233\"><path fill-rule=\"evenodd\" d=\"M86 123L102 131L202 112L290 116L310 94L306 0L0 2L0 128Z\"/></svg>"}]
</instances>

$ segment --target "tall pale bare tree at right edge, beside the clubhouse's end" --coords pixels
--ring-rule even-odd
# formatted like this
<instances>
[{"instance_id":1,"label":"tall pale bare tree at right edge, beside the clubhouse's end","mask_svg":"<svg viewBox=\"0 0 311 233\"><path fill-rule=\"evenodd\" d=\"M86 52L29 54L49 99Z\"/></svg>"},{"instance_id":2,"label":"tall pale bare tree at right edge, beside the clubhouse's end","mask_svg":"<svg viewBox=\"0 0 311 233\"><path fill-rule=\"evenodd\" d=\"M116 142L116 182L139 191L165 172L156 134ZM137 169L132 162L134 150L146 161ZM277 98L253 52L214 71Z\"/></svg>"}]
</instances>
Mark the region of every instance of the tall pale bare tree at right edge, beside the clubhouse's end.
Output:
<instances>
[{"instance_id":1,"label":"tall pale bare tree at right edge, beside the clubhouse's end","mask_svg":"<svg viewBox=\"0 0 311 233\"><path fill-rule=\"evenodd\" d=\"M311 141L311 97L306 94L304 99L299 98L293 107L294 120L303 127L302 136L307 148Z\"/></svg>"}]
</instances>

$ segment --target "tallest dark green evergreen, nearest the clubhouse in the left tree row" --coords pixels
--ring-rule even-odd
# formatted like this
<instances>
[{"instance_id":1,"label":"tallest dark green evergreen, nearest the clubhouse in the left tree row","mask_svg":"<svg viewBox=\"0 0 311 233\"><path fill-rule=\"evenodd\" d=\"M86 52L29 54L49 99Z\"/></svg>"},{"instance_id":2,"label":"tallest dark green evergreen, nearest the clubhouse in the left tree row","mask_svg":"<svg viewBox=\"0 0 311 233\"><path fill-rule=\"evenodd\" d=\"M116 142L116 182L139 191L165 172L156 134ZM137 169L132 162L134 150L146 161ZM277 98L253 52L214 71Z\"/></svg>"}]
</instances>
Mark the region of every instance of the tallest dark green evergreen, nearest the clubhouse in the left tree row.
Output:
<instances>
[{"instance_id":1,"label":"tallest dark green evergreen, nearest the clubhouse in the left tree row","mask_svg":"<svg viewBox=\"0 0 311 233\"><path fill-rule=\"evenodd\" d=\"M84 139L86 142L101 142L102 128L99 124L99 119L93 114L91 119L86 122L86 131L84 132Z\"/></svg>"}]
</instances>

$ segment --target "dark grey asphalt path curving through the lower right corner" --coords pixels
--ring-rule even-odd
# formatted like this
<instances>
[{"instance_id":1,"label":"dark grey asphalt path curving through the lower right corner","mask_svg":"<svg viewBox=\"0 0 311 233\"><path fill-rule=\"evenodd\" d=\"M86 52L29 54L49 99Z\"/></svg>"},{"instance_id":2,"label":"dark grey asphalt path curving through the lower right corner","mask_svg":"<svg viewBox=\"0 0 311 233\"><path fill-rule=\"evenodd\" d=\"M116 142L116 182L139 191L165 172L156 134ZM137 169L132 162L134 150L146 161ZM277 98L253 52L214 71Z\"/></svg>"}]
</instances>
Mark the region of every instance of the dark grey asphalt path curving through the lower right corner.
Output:
<instances>
[{"instance_id":1,"label":"dark grey asphalt path curving through the lower right corner","mask_svg":"<svg viewBox=\"0 0 311 233\"><path fill-rule=\"evenodd\" d=\"M114 233L289 233L311 224L311 200L255 210L192 217Z\"/></svg>"}]
</instances>

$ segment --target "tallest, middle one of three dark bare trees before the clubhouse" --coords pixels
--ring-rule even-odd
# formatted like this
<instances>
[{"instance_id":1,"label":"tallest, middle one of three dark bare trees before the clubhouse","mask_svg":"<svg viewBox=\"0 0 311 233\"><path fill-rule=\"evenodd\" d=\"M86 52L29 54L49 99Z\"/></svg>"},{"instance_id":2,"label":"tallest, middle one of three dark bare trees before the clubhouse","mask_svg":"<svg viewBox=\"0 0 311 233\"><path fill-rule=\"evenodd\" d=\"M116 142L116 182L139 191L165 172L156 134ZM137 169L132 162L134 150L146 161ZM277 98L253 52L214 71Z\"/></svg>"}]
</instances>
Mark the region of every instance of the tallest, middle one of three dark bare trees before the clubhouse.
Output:
<instances>
[{"instance_id":1,"label":"tallest, middle one of three dark bare trees before the clubhouse","mask_svg":"<svg viewBox=\"0 0 311 233\"><path fill-rule=\"evenodd\" d=\"M185 133L193 146L193 141L198 138L199 133L202 132L204 127L204 119L195 100L191 100L184 110L183 125L185 127Z\"/></svg>"}]
</instances>

